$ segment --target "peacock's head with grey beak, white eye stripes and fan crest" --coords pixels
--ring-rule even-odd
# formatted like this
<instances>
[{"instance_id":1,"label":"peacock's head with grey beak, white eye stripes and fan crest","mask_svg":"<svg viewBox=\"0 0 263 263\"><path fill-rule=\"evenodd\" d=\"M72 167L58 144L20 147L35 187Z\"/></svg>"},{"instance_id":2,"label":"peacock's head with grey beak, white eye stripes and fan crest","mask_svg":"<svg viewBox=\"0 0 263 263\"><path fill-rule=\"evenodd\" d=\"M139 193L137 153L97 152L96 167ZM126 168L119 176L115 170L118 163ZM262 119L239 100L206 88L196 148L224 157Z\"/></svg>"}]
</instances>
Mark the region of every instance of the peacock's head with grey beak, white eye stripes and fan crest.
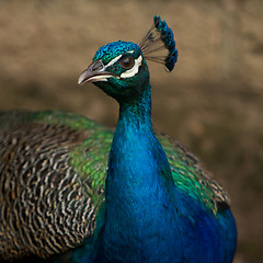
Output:
<instances>
[{"instance_id":1,"label":"peacock's head with grey beak, white eye stripes and fan crest","mask_svg":"<svg viewBox=\"0 0 263 263\"><path fill-rule=\"evenodd\" d=\"M172 71L178 59L172 30L159 16L155 15L153 21L139 45L118 41L102 46L78 83L93 82L117 101L129 100L140 94L149 81L146 59L161 62ZM163 50L165 55L160 54Z\"/></svg>"}]
</instances>

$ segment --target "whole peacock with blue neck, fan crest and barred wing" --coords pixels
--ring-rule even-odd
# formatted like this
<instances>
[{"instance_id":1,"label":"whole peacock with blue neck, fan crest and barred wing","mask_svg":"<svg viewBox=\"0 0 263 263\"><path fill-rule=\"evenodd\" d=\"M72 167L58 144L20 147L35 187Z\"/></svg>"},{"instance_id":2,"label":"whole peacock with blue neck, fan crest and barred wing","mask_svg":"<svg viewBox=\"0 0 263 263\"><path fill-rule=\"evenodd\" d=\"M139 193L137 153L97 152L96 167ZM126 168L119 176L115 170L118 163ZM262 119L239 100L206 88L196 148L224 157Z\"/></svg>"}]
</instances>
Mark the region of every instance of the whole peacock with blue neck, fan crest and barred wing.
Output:
<instances>
[{"instance_id":1,"label":"whole peacock with blue neck, fan crest and barred wing","mask_svg":"<svg viewBox=\"0 0 263 263\"><path fill-rule=\"evenodd\" d=\"M119 104L115 132L70 112L1 113L2 261L232 262L230 198L180 141L153 133L146 60L168 71L178 60L160 16L139 45L100 47L79 77Z\"/></svg>"}]
</instances>

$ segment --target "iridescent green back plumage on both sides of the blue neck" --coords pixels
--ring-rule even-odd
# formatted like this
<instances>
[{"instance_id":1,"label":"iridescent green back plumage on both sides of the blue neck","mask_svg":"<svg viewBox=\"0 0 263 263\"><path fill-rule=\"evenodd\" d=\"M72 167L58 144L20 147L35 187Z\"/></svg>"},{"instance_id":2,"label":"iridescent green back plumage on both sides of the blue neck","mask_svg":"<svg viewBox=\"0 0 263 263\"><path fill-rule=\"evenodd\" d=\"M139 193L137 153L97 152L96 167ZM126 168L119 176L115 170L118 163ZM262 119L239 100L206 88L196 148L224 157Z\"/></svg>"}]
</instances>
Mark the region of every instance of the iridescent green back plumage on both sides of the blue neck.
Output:
<instances>
[{"instance_id":1,"label":"iridescent green back plumage on both sides of the blue neck","mask_svg":"<svg viewBox=\"0 0 263 263\"><path fill-rule=\"evenodd\" d=\"M104 192L113 130L100 126L84 116L59 111L53 112L48 117L45 116L43 121L91 130L90 138L72 151L72 165L83 178L91 176L93 193L96 193L98 188ZM178 140L161 134L157 134L157 137L167 153L174 183L181 191L202 202L215 215L218 205L230 205L230 198L226 190L208 175L197 157ZM90 149L89 155L83 155L85 149Z\"/></svg>"}]
</instances>

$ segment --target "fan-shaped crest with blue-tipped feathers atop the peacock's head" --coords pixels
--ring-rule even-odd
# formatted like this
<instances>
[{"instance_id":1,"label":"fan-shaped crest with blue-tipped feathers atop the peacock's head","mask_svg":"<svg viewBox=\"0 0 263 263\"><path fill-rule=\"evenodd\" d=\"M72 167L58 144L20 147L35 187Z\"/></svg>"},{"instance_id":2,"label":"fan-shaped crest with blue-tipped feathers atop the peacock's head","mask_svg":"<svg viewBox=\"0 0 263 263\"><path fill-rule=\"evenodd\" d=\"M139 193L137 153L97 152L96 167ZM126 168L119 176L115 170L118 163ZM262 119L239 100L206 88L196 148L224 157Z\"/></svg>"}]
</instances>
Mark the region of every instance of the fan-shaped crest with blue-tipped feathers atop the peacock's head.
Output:
<instances>
[{"instance_id":1,"label":"fan-shaped crest with blue-tipped feathers atop the peacock's head","mask_svg":"<svg viewBox=\"0 0 263 263\"><path fill-rule=\"evenodd\" d=\"M160 16L153 16L153 25L139 43L144 57L148 60L164 64L169 71L172 71L178 61L178 49L172 30ZM153 53L168 50L168 55L153 55Z\"/></svg>"}]
</instances>

